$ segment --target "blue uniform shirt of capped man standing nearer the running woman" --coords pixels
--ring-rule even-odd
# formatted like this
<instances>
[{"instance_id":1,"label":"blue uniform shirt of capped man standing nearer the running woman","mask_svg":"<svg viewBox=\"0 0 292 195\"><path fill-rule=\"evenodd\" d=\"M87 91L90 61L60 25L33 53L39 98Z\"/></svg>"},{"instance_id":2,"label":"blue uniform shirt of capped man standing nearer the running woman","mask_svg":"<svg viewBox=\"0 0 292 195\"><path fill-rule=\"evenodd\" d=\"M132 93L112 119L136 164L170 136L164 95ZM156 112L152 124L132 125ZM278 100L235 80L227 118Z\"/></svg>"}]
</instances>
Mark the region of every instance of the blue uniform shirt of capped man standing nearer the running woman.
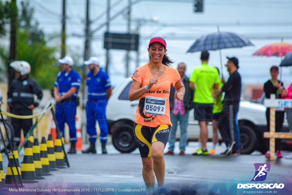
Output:
<instances>
[{"instance_id":1,"label":"blue uniform shirt of capped man standing nearer the running woman","mask_svg":"<svg viewBox=\"0 0 292 195\"><path fill-rule=\"evenodd\" d=\"M105 100L107 89L111 87L109 76L102 70L95 76L93 76L92 72L89 72L86 84L88 85L89 100Z\"/></svg>"}]
</instances>

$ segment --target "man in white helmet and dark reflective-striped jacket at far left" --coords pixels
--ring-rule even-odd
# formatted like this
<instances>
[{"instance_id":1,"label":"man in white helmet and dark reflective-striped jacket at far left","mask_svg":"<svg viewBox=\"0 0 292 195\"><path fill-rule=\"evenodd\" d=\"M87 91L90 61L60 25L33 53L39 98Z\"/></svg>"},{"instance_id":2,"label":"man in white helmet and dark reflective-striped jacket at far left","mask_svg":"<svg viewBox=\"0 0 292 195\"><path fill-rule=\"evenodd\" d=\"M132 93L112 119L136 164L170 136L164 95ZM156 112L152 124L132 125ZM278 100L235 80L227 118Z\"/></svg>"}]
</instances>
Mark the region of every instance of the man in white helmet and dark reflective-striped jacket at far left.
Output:
<instances>
[{"instance_id":1,"label":"man in white helmet and dark reflective-striped jacket at far left","mask_svg":"<svg viewBox=\"0 0 292 195\"><path fill-rule=\"evenodd\" d=\"M15 115L32 115L32 110L39 105L43 97L43 92L39 84L28 76L30 65L26 61L14 61L10 66L15 69L17 78L13 79L9 86L7 103L12 114ZM34 101L34 94L37 99ZM14 128L13 141L19 146L20 132L23 130L24 136L32 127L32 119L11 118Z\"/></svg>"}]
</instances>

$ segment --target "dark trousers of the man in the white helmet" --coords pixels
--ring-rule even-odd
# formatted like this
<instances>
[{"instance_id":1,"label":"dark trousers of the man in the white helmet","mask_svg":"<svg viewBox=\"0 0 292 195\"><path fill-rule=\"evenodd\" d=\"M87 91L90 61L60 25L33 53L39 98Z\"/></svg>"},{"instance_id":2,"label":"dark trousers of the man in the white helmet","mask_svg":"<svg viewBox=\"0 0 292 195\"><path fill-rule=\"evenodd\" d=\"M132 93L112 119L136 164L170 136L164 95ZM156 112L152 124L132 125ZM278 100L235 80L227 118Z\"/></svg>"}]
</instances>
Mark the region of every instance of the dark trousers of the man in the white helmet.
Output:
<instances>
[{"instance_id":1,"label":"dark trousers of the man in the white helmet","mask_svg":"<svg viewBox=\"0 0 292 195\"><path fill-rule=\"evenodd\" d=\"M11 107L11 113L15 115L32 115L32 110L25 109L25 108L13 108ZM19 145L20 142L20 132L21 129L23 130L24 136L29 132L30 128L32 127L32 119L19 119L19 118L11 118L12 126L14 129L14 137L13 142L16 142L16 146Z\"/></svg>"}]
</instances>

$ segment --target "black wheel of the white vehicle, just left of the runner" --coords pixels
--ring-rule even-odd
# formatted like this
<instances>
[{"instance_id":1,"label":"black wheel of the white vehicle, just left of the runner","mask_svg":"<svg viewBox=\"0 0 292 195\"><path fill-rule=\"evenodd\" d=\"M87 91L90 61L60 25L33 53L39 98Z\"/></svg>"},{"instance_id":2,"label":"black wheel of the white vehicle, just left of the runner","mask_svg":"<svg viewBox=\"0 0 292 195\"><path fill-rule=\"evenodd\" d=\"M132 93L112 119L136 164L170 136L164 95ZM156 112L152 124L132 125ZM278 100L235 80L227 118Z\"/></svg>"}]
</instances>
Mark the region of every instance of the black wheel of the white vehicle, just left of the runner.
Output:
<instances>
[{"instance_id":1,"label":"black wheel of the white vehicle, just left of the runner","mask_svg":"<svg viewBox=\"0 0 292 195\"><path fill-rule=\"evenodd\" d=\"M138 147L133 128L132 125L122 124L112 133L112 144L121 153L133 152Z\"/></svg>"}]
</instances>

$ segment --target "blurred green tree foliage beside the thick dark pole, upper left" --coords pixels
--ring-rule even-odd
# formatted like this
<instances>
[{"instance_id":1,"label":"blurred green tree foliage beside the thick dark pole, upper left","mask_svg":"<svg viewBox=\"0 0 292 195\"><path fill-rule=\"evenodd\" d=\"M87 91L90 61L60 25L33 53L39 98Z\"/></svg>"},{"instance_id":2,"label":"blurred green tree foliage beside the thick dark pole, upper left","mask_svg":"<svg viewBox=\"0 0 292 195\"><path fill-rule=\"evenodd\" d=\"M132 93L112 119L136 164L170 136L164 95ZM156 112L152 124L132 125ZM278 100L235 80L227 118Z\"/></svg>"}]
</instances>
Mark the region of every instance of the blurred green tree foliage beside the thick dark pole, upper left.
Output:
<instances>
[{"instance_id":1,"label":"blurred green tree foliage beside the thick dark pole, upper left","mask_svg":"<svg viewBox=\"0 0 292 195\"><path fill-rule=\"evenodd\" d=\"M1 1L0 1L1 3ZM1 7L1 5L0 5ZM9 10L9 8L7 8ZM33 17L34 8L29 1L22 1L19 9L17 32L17 59L27 61L31 66L30 76L40 84L43 89L51 89L59 72L59 67L53 66L56 62L56 47L48 46L44 32ZM0 15L1 17L1 15ZM8 17L9 15L5 16ZM1 20L1 18L0 18ZM3 21L8 21L3 20ZM0 31L1 33L1 31ZM8 66L8 54L0 43L0 57ZM5 63L5 62L3 62Z\"/></svg>"}]
</instances>

